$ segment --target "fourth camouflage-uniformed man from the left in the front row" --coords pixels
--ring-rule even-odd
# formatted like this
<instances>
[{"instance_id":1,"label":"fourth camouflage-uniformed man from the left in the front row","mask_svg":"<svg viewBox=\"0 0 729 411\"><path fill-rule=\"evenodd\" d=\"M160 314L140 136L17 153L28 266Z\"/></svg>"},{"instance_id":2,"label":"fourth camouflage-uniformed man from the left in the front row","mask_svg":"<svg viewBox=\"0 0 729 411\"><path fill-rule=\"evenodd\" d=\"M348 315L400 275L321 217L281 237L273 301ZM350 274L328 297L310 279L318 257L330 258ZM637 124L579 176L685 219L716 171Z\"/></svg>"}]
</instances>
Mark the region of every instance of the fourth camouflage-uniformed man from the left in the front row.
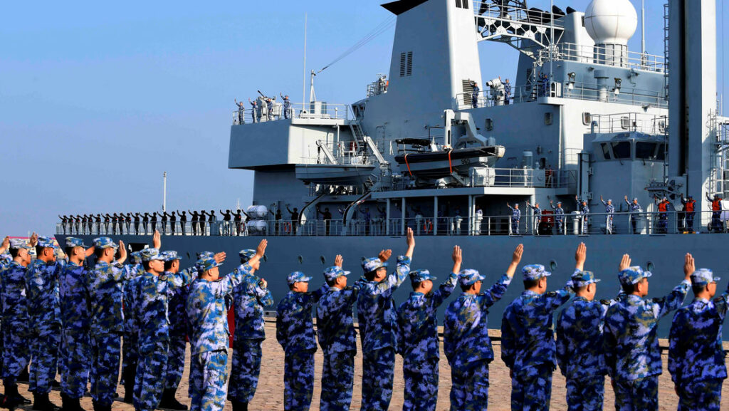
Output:
<instances>
[{"instance_id":1,"label":"fourth camouflage-uniformed man from the left in the front row","mask_svg":"<svg viewBox=\"0 0 729 411\"><path fill-rule=\"evenodd\" d=\"M119 380L121 337L124 332L122 314L123 283L136 277L132 266L125 266L127 252L109 237L93 240L96 265L86 277L91 310L91 397L95 411L110 411ZM120 258L114 260L117 253Z\"/></svg>"}]
</instances>

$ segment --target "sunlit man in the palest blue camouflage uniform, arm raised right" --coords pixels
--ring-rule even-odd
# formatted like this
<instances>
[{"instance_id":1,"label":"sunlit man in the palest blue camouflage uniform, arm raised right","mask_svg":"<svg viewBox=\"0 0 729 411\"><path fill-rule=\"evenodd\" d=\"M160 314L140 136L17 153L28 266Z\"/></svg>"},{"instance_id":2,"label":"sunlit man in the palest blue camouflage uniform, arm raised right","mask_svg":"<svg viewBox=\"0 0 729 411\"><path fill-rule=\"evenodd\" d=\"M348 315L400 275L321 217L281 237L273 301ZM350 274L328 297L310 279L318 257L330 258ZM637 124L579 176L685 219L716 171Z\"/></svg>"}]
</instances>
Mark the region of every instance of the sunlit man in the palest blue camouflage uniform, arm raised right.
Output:
<instances>
[{"instance_id":1,"label":"sunlit man in the palest blue camouflage uniform, arm raised right","mask_svg":"<svg viewBox=\"0 0 729 411\"><path fill-rule=\"evenodd\" d=\"M241 283L259 283L253 272L260 267L267 244L265 239L262 240L256 254L246 264L222 278L219 277L220 263L214 258L198 261L198 268L203 273L190 285L185 305L192 330L190 411L221 411L225 407L227 347L230 341L225 296ZM260 283L265 288L265 280L260 280Z\"/></svg>"}]
</instances>

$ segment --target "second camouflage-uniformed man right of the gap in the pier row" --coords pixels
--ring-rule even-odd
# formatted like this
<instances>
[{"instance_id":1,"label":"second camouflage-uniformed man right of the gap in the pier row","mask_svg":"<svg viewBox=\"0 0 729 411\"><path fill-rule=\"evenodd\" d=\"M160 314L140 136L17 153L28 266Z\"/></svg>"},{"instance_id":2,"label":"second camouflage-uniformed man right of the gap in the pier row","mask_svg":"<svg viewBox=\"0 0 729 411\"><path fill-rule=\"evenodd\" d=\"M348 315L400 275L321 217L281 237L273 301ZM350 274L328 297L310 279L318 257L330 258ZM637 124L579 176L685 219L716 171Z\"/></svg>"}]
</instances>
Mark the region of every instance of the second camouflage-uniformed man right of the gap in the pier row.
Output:
<instances>
[{"instance_id":1,"label":"second camouflage-uniformed man right of the gap in the pier row","mask_svg":"<svg viewBox=\"0 0 729 411\"><path fill-rule=\"evenodd\" d=\"M316 306L316 334L324 354L321 370L321 411L348 411L352 401L354 356L357 353L352 307L361 281L347 287L347 276L338 258L338 266L324 270L329 290Z\"/></svg>"}]
</instances>

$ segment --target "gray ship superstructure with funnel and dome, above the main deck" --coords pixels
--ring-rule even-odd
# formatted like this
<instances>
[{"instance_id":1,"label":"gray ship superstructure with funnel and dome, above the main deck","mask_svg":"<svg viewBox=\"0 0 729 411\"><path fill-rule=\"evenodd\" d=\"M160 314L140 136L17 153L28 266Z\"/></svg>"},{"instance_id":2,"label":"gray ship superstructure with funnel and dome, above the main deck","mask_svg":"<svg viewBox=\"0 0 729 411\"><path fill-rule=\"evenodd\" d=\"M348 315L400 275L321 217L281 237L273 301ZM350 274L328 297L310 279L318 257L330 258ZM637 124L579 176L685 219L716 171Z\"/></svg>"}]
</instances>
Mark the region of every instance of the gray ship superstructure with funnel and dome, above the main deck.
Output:
<instances>
[{"instance_id":1,"label":"gray ship superstructure with funnel and dome, above the main deck","mask_svg":"<svg viewBox=\"0 0 729 411\"><path fill-rule=\"evenodd\" d=\"M673 127L685 131L671 133L668 122L671 84L677 97L679 88L705 90L701 99L690 93L674 100L701 106L703 123L712 116L717 125L726 123L716 115L716 73L707 72L715 64L706 61L701 75L668 81L663 56L628 50L638 20L630 1L596 0L584 13L529 9L526 1L394 1L383 7L397 15L391 66L365 99L349 106L310 101L293 107L290 120L232 126L229 167L255 171L254 204L303 208L299 223L321 220L316 207L351 204L352 215L368 207L388 222L405 220L410 211L437 221L453 217L448 204L450 214L457 208L469 221L469 232L480 232L476 207L483 215L507 215L507 202L544 206L553 199L572 211L574 196L597 207L602 195L625 211L628 196L653 212L654 196L678 201L679 193L690 192L698 210L707 211L706 193L723 194L726 173L706 167L717 145L706 141L693 150L699 143L686 137L708 140L718 127L701 124L691 132L687 125L698 129L700 121L677 121ZM713 14L704 13L710 18L699 19L709 26L697 41L701 51L674 42L687 47L677 55L714 55L715 37L705 37L715 31L706 21ZM668 15L667 7L671 30ZM480 41L519 51L508 99L505 80L481 78ZM677 58L675 71L693 67L687 60ZM474 85L481 89L476 99ZM669 144L672 135L683 137ZM667 161L669 154L685 160ZM693 156L703 164L695 173L687 166ZM599 225L590 221L590 228ZM402 223L385 226L384 234L404 229ZM346 226L337 233L356 234Z\"/></svg>"}]
</instances>

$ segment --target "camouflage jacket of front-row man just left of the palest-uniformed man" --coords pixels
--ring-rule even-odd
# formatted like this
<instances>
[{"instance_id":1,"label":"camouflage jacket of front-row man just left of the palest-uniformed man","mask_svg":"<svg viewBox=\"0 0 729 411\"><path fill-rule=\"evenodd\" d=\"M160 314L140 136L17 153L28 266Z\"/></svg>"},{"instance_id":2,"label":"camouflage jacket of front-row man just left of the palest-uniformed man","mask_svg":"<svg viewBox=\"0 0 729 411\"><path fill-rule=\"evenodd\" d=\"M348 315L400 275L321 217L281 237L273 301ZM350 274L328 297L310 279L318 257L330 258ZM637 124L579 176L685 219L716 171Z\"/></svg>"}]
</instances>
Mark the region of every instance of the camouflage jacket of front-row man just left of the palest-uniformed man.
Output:
<instances>
[{"instance_id":1,"label":"camouflage jacket of front-row man just left of the palest-uniformed man","mask_svg":"<svg viewBox=\"0 0 729 411\"><path fill-rule=\"evenodd\" d=\"M139 333L139 353L166 349L170 341L169 300L176 290L188 283L190 275L186 271L176 274L163 272L160 275L144 272L129 283L132 285L129 312Z\"/></svg>"}]
</instances>

